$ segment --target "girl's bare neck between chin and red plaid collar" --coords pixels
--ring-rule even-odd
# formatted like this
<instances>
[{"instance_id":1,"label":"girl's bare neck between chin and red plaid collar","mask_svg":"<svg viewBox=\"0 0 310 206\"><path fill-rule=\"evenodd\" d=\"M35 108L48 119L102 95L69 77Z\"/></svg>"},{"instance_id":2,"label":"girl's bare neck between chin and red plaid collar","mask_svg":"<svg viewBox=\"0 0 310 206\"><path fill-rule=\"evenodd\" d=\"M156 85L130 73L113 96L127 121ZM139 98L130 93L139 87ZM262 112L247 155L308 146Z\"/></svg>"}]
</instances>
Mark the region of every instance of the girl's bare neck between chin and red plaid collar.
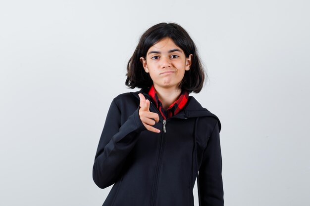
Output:
<instances>
[{"instance_id":1,"label":"girl's bare neck between chin and red plaid collar","mask_svg":"<svg viewBox=\"0 0 310 206\"><path fill-rule=\"evenodd\" d=\"M182 92L180 88L162 88L156 87L156 85L154 85L154 87L164 109L167 109L173 102L175 102Z\"/></svg>"}]
</instances>

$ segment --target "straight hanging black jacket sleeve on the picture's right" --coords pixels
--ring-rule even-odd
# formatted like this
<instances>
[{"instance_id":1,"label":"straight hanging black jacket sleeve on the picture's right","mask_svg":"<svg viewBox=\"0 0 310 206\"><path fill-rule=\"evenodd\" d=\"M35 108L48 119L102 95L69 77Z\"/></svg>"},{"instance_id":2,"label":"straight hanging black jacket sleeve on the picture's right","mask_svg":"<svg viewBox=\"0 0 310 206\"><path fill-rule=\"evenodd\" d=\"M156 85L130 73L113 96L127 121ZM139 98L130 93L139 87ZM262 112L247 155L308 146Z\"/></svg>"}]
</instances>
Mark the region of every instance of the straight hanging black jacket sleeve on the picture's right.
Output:
<instances>
[{"instance_id":1,"label":"straight hanging black jacket sleeve on the picture's right","mask_svg":"<svg viewBox=\"0 0 310 206\"><path fill-rule=\"evenodd\" d=\"M198 175L200 206L223 206L222 157L219 139L219 123L207 141Z\"/></svg>"}]
</instances>

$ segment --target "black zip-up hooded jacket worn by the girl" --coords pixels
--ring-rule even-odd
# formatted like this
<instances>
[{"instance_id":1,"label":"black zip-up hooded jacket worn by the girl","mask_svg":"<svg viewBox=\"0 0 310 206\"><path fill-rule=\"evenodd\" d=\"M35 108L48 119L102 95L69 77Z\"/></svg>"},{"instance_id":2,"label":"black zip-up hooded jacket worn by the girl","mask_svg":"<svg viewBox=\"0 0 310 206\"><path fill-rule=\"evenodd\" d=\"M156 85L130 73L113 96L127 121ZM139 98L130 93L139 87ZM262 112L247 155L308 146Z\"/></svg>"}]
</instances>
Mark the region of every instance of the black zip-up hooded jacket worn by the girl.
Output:
<instances>
[{"instance_id":1,"label":"black zip-up hooded jacket worn by the girl","mask_svg":"<svg viewBox=\"0 0 310 206\"><path fill-rule=\"evenodd\" d=\"M129 92L109 108L93 166L100 188L114 184L103 206L193 206L197 176L200 206L223 206L219 119L190 96L165 133L161 117L161 132L150 132L139 118L142 92L151 100Z\"/></svg>"}]
</instances>

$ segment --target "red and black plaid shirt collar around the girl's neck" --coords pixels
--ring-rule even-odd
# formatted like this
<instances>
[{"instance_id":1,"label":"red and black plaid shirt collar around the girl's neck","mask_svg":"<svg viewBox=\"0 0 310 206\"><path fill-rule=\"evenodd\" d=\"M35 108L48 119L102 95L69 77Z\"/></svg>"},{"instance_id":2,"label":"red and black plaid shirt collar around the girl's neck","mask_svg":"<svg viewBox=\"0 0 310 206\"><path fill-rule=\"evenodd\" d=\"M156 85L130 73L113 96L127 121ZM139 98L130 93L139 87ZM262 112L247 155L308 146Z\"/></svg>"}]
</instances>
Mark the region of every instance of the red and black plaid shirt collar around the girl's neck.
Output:
<instances>
[{"instance_id":1,"label":"red and black plaid shirt collar around the girl's neck","mask_svg":"<svg viewBox=\"0 0 310 206\"><path fill-rule=\"evenodd\" d=\"M160 112L162 118L165 120L167 118L173 117L174 115L178 114L186 105L188 100L189 92L187 90L183 90L180 97L173 102L167 110L163 109L162 103L159 100L154 85L151 86L149 95L152 97L153 102L155 103L156 108Z\"/></svg>"}]
</instances>

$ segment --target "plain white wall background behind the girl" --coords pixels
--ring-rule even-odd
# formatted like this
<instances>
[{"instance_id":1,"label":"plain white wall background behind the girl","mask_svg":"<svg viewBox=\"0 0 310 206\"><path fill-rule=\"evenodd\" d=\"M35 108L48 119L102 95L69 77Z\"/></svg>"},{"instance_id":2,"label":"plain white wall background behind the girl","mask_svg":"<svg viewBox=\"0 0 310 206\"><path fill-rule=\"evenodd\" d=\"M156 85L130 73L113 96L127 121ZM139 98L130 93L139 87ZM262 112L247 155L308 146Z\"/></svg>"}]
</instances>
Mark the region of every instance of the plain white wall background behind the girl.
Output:
<instances>
[{"instance_id":1,"label":"plain white wall background behind the girl","mask_svg":"<svg viewBox=\"0 0 310 206\"><path fill-rule=\"evenodd\" d=\"M222 123L226 206L309 206L308 0L2 0L0 205L101 206L92 166L142 33L183 26ZM194 189L195 205L197 189Z\"/></svg>"}]
</instances>

